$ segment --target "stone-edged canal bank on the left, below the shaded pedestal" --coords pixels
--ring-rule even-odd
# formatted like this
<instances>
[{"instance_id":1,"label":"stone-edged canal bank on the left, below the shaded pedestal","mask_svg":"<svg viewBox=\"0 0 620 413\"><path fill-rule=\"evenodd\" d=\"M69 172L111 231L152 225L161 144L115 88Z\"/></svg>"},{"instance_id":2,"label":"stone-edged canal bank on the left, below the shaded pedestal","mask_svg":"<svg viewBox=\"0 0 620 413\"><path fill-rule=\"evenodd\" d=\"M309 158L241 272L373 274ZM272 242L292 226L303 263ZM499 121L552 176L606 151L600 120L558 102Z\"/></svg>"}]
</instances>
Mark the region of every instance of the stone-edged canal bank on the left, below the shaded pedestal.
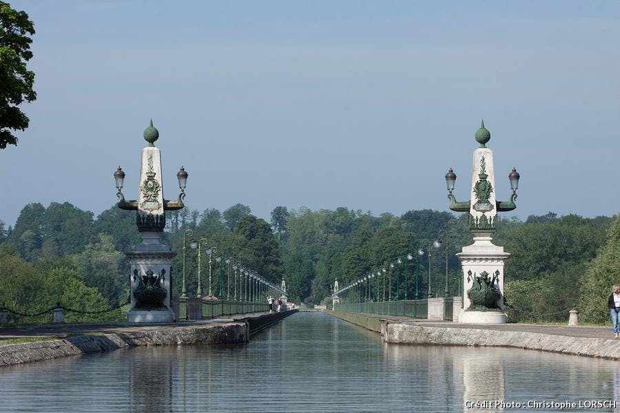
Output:
<instances>
[{"instance_id":1,"label":"stone-edged canal bank on the left, below the shaded pedestal","mask_svg":"<svg viewBox=\"0 0 620 413\"><path fill-rule=\"evenodd\" d=\"M1 339L50 339L0 346L0 367L136 346L247 343L251 335L294 313L296 310L273 314L255 313L237 315L230 319L158 326L79 324L1 328Z\"/></svg>"}]
</instances>

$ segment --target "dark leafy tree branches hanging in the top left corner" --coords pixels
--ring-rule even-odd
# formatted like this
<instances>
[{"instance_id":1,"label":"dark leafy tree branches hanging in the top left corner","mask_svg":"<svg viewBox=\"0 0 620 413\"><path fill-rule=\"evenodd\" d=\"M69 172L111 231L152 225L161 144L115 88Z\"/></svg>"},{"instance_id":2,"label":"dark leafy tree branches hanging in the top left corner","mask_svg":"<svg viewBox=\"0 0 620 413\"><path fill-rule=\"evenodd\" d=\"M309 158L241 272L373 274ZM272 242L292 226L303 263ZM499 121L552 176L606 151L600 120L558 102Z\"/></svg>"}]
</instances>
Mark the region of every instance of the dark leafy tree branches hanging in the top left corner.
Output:
<instances>
[{"instance_id":1,"label":"dark leafy tree branches hanging in the top left corner","mask_svg":"<svg viewBox=\"0 0 620 413\"><path fill-rule=\"evenodd\" d=\"M34 92L34 72L26 67L32 59L28 36L34 34L34 24L28 14L12 9L0 1L0 149L17 145L12 131L23 131L30 120L19 109L23 101L37 98Z\"/></svg>"}]
</instances>

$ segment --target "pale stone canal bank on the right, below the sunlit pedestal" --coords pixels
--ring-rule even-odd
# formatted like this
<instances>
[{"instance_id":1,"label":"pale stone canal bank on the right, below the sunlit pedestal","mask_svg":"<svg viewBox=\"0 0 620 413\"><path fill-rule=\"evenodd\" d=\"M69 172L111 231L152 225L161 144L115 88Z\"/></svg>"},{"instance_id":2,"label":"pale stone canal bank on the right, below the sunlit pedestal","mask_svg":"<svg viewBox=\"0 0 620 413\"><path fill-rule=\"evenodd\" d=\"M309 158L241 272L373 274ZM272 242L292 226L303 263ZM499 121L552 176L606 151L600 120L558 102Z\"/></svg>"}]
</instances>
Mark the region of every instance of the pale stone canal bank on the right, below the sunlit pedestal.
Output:
<instances>
[{"instance_id":1,"label":"pale stone canal bank on the right, below the sunlit pedestal","mask_svg":"<svg viewBox=\"0 0 620 413\"><path fill-rule=\"evenodd\" d=\"M604 359L620 359L620 339L611 329L597 326L537 324L459 324L411 321L325 311L382 335L393 344L426 346L512 347ZM608 338L610 337L610 338Z\"/></svg>"}]
</instances>

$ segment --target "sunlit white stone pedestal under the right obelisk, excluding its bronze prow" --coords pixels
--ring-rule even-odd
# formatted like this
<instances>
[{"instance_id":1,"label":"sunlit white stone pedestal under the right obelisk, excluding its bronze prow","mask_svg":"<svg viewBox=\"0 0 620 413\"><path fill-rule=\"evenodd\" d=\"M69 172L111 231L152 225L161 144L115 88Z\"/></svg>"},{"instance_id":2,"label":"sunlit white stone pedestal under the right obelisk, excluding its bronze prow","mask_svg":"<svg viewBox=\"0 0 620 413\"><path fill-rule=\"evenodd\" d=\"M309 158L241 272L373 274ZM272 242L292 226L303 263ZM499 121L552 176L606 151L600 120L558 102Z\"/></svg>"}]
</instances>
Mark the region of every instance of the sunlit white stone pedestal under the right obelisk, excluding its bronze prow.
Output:
<instances>
[{"instance_id":1,"label":"sunlit white stone pedestal under the right obelisk, excluding its bronze prow","mask_svg":"<svg viewBox=\"0 0 620 413\"><path fill-rule=\"evenodd\" d=\"M497 246L491 242L493 238L490 233L474 233L473 240L473 244L464 246L463 251L457 254L463 268L463 290L465 292L463 297L463 308L465 310L459 321L471 324L506 323L507 317L504 313L504 261L510 254L504 252L503 246ZM467 291L473 286L475 277L482 273L487 273L490 278L497 273L495 287L502 292L496 302L499 310L469 310L471 301L467 296Z\"/></svg>"}]
</instances>

